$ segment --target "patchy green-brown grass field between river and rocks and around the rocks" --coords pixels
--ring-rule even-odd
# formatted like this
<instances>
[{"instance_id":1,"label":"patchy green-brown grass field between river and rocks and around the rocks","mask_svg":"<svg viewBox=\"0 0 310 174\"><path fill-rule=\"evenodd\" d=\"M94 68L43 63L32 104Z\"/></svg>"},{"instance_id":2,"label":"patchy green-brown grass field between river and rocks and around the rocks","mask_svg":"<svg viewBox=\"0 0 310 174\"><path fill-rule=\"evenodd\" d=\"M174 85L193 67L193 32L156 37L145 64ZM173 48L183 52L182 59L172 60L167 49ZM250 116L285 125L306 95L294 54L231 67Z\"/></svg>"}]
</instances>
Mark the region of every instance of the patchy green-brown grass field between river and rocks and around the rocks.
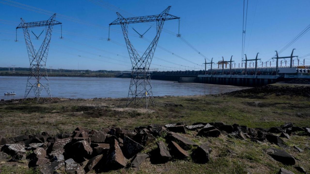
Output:
<instances>
[{"instance_id":1,"label":"patchy green-brown grass field between river and rocks and around the rocks","mask_svg":"<svg viewBox=\"0 0 310 174\"><path fill-rule=\"evenodd\" d=\"M4 101L0 102L0 135L14 137L42 131L55 135L72 132L78 126L98 130L108 126L133 129L137 126L180 121L188 125L194 122L221 121L251 128L269 128L286 122L293 122L294 125L301 127L310 125L310 98L302 95L286 95L283 90L279 94L157 97L155 106L148 109L141 109L140 106L124 107L125 104L124 98ZM184 136L197 144L206 142L210 145L213 150L211 161L207 164L196 164L187 159L154 165L146 160L139 170L129 168L109 173L277 173L281 167L298 173L294 167L284 166L264 153L263 149L275 146L270 143L258 144L224 135L218 138L203 138L195 136L196 134L194 131L189 131ZM285 141L290 146L287 151L298 159L296 165L303 166L309 171L310 150L305 148L309 146L309 137L292 136ZM298 153L293 148L294 145L304 149L304 152ZM146 147L146 152L154 148L156 144L152 143ZM228 149L234 153L228 153ZM26 164L23 162L16 165L19 167L11 167L8 163L1 162L0 170L4 173L15 170L15 173L36 172L25 167Z\"/></svg>"}]
</instances>

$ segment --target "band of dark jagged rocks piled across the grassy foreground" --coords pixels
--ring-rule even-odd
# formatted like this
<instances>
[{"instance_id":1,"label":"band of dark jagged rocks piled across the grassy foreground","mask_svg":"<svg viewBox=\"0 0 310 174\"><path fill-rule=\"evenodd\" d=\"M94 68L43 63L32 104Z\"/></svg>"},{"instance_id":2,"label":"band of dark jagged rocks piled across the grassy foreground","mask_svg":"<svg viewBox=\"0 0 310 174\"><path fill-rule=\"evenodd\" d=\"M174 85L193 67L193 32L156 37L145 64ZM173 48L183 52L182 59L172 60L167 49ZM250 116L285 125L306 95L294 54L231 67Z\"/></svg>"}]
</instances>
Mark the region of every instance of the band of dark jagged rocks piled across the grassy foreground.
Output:
<instances>
[{"instance_id":1,"label":"band of dark jagged rocks piled across the grassy foreground","mask_svg":"<svg viewBox=\"0 0 310 174\"><path fill-rule=\"evenodd\" d=\"M123 167L139 167L147 158L150 158L152 164L166 163L172 159L208 163L212 149L208 143L197 145L184 137L188 130L197 131L197 136L202 137L219 137L222 134L241 140L250 139L256 143L270 142L278 147L265 149L267 156L305 172L302 166L295 166L298 159L286 152L289 147L283 138L310 136L310 128L301 128L292 123L263 129L221 122L187 126L182 122L165 126L140 126L134 130L108 127L97 131L78 127L72 133L56 136L46 132L13 138L0 136L0 160L26 160L29 167L36 167L43 174L55 173L59 169L67 173L83 174L92 170L106 172ZM157 143L156 149L141 153L145 146L154 141ZM294 148L303 152L298 146ZM281 168L279 173L293 172Z\"/></svg>"}]
</instances>

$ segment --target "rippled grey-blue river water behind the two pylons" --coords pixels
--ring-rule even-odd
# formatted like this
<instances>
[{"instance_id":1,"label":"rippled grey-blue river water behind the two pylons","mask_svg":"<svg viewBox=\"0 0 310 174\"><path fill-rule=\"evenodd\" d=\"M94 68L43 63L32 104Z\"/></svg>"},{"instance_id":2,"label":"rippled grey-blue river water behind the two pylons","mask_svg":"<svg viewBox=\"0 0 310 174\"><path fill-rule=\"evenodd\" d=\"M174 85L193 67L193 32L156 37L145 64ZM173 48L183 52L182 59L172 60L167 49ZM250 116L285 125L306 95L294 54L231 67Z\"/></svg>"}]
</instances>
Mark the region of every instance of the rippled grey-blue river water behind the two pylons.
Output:
<instances>
[{"instance_id":1,"label":"rippled grey-blue river water behind the two pylons","mask_svg":"<svg viewBox=\"0 0 310 174\"><path fill-rule=\"evenodd\" d=\"M126 98L130 78L102 77L49 77L52 97L59 98ZM24 98L27 76L0 76L0 99ZM248 87L211 85L200 83L177 83L166 80L151 80L153 96L184 96L219 94ZM4 93L15 92L15 96ZM30 91L28 97L35 97ZM48 97L42 91L41 97Z\"/></svg>"}]
</instances>

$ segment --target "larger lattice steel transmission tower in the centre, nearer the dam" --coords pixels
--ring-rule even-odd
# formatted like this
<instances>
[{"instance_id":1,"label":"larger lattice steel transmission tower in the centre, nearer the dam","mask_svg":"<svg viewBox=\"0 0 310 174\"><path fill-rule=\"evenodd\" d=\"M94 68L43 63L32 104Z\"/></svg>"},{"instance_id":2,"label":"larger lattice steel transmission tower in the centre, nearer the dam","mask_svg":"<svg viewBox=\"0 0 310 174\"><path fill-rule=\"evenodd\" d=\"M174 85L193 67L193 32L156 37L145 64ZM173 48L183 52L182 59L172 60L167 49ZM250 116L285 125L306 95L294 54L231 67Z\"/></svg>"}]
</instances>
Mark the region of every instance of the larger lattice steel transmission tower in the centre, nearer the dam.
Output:
<instances>
[{"instance_id":1,"label":"larger lattice steel transmission tower in the centre, nearer the dam","mask_svg":"<svg viewBox=\"0 0 310 174\"><path fill-rule=\"evenodd\" d=\"M129 57L132 64L131 82L129 86L126 106L130 105L132 102L134 104L138 104L139 102L141 102L144 105L144 107L147 108L149 101L151 101L152 105L154 105L149 67L152 62L153 55L158 43L160 33L162 32L164 22L166 20L180 19L179 17L168 14L170 7L171 6L166 8L159 15L140 16L131 18L124 18L121 14L117 12L116 14L118 18L114 20L111 24L109 24L109 27L111 25L118 25L118 24L122 26L125 42L127 45ZM157 34L153 39L153 41L151 42L151 44L146 49L146 51L144 52L144 54L140 56L138 52L135 50L134 46L129 41L128 24L155 22L155 21L157 24ZM110 37L108 37L108 41L109 40Z\"/></svg>"}]
</instances>

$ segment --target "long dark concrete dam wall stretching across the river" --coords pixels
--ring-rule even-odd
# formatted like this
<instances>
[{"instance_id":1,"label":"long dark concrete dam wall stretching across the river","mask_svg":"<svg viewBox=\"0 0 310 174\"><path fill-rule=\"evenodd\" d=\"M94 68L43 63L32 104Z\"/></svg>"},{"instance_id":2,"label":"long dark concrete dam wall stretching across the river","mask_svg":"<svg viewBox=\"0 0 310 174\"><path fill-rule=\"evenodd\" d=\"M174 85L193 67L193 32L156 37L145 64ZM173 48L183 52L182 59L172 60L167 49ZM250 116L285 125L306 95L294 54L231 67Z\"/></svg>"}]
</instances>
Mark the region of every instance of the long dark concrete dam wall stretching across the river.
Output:
<instances>
[{"instance_id":1,"label":"long dark concrete dam wall stretching across the river","mask_svg":"<svg viewBox=\"0 0 310 174\"><path fill-rule=\"evenodd\" d=\"M277 70L277 72L276 72ZM213 69L208 71L162 71L150 72L151 79L170 80L188 83L208 83L234 86L263 86L294 79L310 80L308 67L263 67ZM276 75L277 74L277 75ZM123 72L119 77L131 77L131 72Z\"/></svg>"}]
</instances>

